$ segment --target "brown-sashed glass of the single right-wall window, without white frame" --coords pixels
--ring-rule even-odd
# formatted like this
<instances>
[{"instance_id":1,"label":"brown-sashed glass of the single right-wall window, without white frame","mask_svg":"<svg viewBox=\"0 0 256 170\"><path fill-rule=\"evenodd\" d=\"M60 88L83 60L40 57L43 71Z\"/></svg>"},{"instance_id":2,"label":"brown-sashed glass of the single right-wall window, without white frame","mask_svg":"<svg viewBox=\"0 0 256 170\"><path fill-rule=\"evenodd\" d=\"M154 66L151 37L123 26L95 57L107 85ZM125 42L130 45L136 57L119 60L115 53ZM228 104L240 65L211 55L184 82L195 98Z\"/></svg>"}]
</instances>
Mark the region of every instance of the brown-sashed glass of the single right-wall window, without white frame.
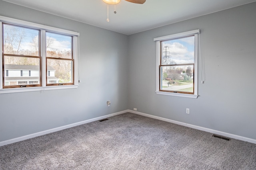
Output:
<instances>
[{"instance_id":1,"label":"brown-sashed glass of the single right-wall window, without white frame","mask_svg":"<svg viewBox=\"0 0 256 170\"><path fill-rule=\"evenodd\" d=\"M161 41L160 91L194 94L194 35Z\"/></svg>"}]
</instances>

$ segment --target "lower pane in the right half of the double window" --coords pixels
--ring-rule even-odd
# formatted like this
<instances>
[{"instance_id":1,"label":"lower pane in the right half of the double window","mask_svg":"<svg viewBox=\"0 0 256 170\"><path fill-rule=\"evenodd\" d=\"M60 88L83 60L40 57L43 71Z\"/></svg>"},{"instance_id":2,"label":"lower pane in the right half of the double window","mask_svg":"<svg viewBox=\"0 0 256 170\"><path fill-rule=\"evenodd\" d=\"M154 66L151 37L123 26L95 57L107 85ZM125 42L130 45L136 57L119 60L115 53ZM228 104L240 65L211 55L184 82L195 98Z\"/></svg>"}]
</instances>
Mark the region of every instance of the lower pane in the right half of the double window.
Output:
<instances>
[{"instance_id":1,"label":"lower pane in the right half of the double window","mask_svg":"<svg viewBox=\"0 0 256 170\"><path fill-rule=\"evenodd\" d=\"M73 61L61 59L47 59L47 82L73 83Z\"/></svg>"}]
</instances>

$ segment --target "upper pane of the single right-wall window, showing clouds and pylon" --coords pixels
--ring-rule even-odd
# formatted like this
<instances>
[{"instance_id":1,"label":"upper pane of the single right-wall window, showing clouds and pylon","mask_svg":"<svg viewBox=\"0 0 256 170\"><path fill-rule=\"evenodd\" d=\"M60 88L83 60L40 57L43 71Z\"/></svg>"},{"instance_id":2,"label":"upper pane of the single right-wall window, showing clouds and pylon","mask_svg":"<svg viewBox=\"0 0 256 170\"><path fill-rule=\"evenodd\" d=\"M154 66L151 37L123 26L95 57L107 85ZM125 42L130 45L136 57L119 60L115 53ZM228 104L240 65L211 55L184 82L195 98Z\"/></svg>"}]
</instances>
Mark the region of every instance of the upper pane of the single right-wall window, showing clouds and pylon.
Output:
<instances>
[{"instance_id":1,"label":"upper pane of the single right-wall window, showing clouds and pylon","mask_svg":"<svg viewBox=\"0 0 256 170\"><path fill-rule=\"evenodd\" d=\"M161 47L162 65L194 63L194 35L162 41Z\"/></svg>"}]
</instances>

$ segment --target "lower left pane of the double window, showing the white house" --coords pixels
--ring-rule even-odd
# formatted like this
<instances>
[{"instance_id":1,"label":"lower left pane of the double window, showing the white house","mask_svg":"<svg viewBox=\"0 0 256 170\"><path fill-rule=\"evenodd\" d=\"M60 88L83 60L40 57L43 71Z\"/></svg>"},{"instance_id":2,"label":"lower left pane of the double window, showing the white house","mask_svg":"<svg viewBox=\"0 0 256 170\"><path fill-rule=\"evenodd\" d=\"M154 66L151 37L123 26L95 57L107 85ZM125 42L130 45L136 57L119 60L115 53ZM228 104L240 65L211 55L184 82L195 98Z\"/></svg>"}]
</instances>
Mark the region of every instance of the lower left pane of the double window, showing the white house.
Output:
<instances>
[{"instance_id":1,"label":"lower left pane of the double window, showing the white house","mask_svg":"<svg viewBox=\"0 0 256 170\"><path fill-rule=\"evenodd\" d=\"M4 86L40 84L39 58L4 56L4 71L8 72L8 76L4 77Z\"/></svg>"}]
</instances>

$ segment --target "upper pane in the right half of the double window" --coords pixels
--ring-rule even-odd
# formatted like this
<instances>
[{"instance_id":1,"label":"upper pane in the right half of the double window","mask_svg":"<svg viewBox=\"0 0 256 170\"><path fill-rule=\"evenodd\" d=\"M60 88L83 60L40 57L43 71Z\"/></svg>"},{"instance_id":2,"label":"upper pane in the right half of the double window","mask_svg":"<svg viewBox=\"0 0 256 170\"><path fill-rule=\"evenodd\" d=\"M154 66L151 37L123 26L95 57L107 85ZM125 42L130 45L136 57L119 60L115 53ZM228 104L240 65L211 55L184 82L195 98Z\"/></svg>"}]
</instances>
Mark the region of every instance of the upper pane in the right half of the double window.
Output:
<instances>
[{"instance_id":1,"label":"upper pane in the right half of the double window","mask_svg":"<svg viewBox=\"0 0 256 170\"><path fill-rule=\"evenodd\" d=\"M46 32L46 57L72 59L72 36Z\"/></svg>"}]
</instances>

